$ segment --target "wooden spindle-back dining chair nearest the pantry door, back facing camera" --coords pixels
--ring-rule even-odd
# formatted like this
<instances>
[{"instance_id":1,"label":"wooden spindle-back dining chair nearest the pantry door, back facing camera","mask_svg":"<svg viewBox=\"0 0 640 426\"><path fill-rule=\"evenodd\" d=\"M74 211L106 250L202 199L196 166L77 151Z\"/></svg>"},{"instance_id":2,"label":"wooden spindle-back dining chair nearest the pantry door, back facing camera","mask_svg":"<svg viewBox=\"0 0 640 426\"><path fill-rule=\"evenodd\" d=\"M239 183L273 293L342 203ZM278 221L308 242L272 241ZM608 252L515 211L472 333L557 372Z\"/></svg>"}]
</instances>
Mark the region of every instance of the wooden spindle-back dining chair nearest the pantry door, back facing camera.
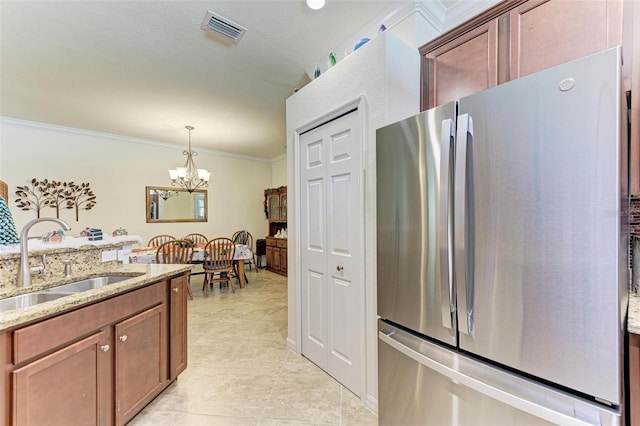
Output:
<instances>
[{"instance_id":1,"label":"wooden spindle-back dining chair nearest the pantry door, back facing camera","mask_svg":"<svg viewBox=\"0 0 640 426\"><path fill-rule=\"evenodd\" d=\"M229 238L214 238L207 243L204 248L204 264L202 265L204 269L202 290L205 297L209 297L209 288L213 288L214 282L219 282L220 288L222 288L222 282L226 281L231 287L231 291L236 292L231 280L235 252L236 245ZM218 274L217 278L216 274Z\"/></svg>"}]
</instances>

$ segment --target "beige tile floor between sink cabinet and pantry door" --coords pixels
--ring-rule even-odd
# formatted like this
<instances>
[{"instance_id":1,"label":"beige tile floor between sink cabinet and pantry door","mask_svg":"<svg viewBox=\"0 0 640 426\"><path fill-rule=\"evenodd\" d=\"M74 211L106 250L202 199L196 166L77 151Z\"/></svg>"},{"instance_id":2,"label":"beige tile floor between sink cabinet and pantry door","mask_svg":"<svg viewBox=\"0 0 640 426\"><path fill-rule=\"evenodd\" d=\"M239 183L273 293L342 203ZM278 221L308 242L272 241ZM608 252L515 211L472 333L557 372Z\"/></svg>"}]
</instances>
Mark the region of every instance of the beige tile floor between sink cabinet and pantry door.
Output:
<instances>
[{"instance_id":1,"label":"beige tile floor between sink cabinet and pantry door","mask_svg":"<svg viewBox=\"0 0 640 426\"><path fill-rule=\"evenodd\" d=\"M202 275L188 301L189 367L129 425L377 425L353 393L287 349L287 281L247 272L249 284L214 286Z\"/></svg>"}]
</instances>

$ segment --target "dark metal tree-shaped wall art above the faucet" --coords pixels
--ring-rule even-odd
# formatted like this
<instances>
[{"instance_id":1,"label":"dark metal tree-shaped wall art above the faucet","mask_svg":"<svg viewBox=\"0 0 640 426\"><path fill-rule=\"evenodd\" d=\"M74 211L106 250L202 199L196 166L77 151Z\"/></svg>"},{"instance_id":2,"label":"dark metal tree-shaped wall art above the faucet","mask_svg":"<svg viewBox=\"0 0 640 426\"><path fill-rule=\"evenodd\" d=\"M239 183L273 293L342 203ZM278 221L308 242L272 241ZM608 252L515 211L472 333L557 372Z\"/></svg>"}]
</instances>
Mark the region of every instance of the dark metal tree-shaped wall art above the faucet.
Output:
<instances>
[{"instance_id":1,"label":"dark metal tree-shaped wall art above the faucet","mask_svg":"<svg viewBox=\"0 0 640 426\"><path fill-rule=\"evenodd\" d=\"M91 210L96 205L96 196L89 183L49 181L49 179L31 179L31 185L18 186L16 204L18 208L34 210L39 218L44 207L56 210L56 218L60 219L60 209L76 209L76 222L79 211ZM30 199L33 198L33 199Z\"/></svg>"}]
</instances>

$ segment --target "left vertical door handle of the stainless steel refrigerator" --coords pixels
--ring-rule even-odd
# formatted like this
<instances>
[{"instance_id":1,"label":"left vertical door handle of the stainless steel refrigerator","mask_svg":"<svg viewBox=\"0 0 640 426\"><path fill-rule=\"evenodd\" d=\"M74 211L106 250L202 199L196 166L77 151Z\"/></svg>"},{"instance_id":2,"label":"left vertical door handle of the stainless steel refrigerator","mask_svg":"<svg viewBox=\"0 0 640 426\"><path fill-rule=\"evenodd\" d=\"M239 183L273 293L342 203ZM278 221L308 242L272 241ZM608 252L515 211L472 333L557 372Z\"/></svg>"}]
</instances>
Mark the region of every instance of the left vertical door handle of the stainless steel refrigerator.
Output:
<instances>
[{"instance_id":1,"label":"left vertical door handle of the stainless steel refrigerator","mask_svg":"<svg viewBox=\"0 0 640 426\"><path fill-rule=\"evenodd\" d=\"M440 252L440 287L442 295L442 325L453 328L455 300L451 279L451 147L455 137L454 121L442 120L440 131L440 211L438 212L438 250Z\"/></svg>"}]
</instances>

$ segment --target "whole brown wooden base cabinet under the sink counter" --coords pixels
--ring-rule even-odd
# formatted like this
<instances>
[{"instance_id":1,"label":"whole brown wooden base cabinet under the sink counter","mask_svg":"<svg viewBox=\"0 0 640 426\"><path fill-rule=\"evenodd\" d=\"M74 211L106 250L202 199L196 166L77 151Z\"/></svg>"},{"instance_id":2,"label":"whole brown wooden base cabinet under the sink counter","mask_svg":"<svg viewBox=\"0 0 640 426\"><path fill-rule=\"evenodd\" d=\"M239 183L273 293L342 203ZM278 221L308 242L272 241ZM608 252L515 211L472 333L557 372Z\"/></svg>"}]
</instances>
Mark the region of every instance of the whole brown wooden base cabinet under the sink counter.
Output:
<instances>
[{"instance_id":1,"label":"whole brown wooden base cabinet under the sink counter","mask_svg":"<svg viewBox=\"0 0 640 426\"><path fill-rule=\"evenodd\" d=\"M188 275L0 332L5 424L124 425L186 368Z\"/></svg>"}]
</instances>

